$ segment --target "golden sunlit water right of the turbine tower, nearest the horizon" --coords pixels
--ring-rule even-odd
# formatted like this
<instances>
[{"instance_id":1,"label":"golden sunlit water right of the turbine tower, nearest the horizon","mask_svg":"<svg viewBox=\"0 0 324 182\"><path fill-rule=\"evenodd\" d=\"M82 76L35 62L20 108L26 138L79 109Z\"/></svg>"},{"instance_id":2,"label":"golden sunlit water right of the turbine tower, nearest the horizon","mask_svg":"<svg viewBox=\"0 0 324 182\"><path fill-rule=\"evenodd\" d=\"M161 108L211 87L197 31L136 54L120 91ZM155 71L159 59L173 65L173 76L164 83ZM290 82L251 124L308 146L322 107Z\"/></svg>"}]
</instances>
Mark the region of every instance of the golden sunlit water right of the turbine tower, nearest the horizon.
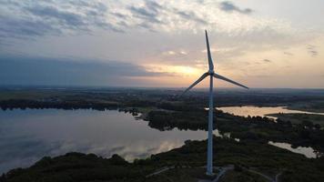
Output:
<instances>
[{"instance_id":1,"label":"golden sunlit water right of the turbine tower, nearest the horizon","mask_svg":"<svg viewBox=\"0 0 324 182\"><path fill-rule=\"evenodd\" d=\"M304 113L304 114L317 114L324 115L324 113L312 113L299 110L290 110L286 106L223 106L218 107L218 109L234 114L237 116L266 116L268 114L276 113ZM268 116L270 118L277 118L273 116Z\"/></svg>"}]
</instances>

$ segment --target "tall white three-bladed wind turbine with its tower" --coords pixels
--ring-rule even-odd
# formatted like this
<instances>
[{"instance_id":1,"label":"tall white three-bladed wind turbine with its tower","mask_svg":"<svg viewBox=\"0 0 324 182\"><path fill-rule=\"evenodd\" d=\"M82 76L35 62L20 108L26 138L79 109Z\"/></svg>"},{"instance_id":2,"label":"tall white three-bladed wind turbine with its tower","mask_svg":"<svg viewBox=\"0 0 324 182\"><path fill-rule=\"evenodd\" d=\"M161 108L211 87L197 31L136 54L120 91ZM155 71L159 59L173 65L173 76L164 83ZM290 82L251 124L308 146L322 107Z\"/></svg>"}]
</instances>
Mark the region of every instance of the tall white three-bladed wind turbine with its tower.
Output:
<instances>
[{"instance_id":1,"label":"tall white three-bladed wind turbine with its tower","mask_svg":"<svg viewBox=\"0 0 324 182\"><path fill-rule=\"evenodd\" d=\"M192 87L196 86L199 82L201 82L206 77L210 77L210 85L209 85L209 110L208 110L208 157L207 157L207 175L212 176L213 175L213 77L216 77L218 79L225 80L231 84L241 86L244 88L247 88L247 86L243 86L241 84L238 84L238 82L235 82L233 80L228 79L227 77L220 76L217 73L214 72L214 64L213 60L210 55L210 47L209 47L209 41L208 41L208 34L207 30L205 30L206 34L206 44L207 44L207 53L208 53L208 72L204 73L202 76L200 76L196 82L194 82L191 86L189 86L181 96L187 93L188 90L190 90Z\"/></svg>"}]
</instances>

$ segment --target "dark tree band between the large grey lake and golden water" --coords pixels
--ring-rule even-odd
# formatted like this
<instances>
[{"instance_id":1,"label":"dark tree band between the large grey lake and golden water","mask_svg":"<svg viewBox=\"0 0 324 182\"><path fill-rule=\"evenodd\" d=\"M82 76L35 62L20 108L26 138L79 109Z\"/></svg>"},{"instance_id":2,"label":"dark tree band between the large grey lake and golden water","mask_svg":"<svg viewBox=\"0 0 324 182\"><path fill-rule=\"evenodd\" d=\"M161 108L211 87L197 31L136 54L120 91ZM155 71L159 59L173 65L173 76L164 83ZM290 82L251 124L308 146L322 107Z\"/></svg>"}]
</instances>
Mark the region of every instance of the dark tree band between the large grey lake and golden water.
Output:
<instances>
[{"instance_id":1,"label":"dark tree band between the large grey lake and golden water","mask_svg":"<svg viewBox=\"0 0 324 182\"><path fill-rule=\"evenodd\" d=\"M178 129L207 130L208 112L170 112L150 111L147 114L148 126L161 131ZM313 147L324 153L324 131L319 125L311 122L302 122L298 125L290 121L277 119L276 121L266 116L233 116L217 110L214 113L214 129L221 133L230 133L231 137L240 140L253 140L261 143L286 142L293 146Z\"/></svg>"}]
</instances>

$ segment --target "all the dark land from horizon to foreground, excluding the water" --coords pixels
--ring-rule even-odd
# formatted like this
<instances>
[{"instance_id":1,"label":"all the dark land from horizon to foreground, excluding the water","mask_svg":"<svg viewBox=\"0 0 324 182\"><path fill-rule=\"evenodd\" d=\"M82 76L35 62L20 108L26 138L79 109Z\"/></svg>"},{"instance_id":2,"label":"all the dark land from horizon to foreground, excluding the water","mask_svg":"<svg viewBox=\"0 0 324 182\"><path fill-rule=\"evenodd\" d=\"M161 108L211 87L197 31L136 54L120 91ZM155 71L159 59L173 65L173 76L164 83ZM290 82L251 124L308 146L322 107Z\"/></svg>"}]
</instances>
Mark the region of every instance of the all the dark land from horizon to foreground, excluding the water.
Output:
<instances>
[{"instance_id":1,"label":"all the dark land from horizon to foreground, excluding the water","mask_svg":"<svg viewBox=\"0 0 324 182\"><path fill-rule=\"evenodd\" d=\"M148 126L161 131L175 127L206 130L206 92L201 90L178 97L180 93L175 89L144 88L3 88L0 89L0 107L3 110L119 109L134 116L141 113ZM289 106L323 112L324 91L220 89L216 93L216 103L218 106ZM215 138L214 166L229 167L219 181L276 181L276 177L278 181L324 181L323 117L276 116L275 121L260 116L233 116L219 110L215 113L214 126L221 134L230 133L229 138ZM268 141L286 142L293 147L313 147L319 155L307 158L270 146ZM102 158L69 153L61 157L44 157L32 167L11 170L0 181L197 181L205 177L206 151L206 141L187 141L183 147L133 163L117 155ZM150 175L161 170L163 172L157 175ZM215 171L222 171L222 168L215 168Z\"/></svg>"}]
</instances>

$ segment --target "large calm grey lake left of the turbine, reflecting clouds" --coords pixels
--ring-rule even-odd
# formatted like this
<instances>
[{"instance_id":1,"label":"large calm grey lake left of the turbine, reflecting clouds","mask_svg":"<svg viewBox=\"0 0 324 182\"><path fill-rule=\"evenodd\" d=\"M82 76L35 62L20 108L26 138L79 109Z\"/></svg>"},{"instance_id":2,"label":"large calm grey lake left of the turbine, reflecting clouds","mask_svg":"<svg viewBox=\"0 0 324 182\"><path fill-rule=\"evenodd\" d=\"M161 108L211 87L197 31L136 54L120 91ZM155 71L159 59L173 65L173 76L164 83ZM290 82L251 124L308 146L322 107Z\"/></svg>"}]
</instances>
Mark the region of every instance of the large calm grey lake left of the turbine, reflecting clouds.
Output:
<instances>
[{"instance_id":1,"label":"large calm grey lake left of the turbine, reflecting clouds","mask_svg":"<svg viewBox=\"0 0 324 182\"><path fill-rule=\"evenodd\" d=\"M218 131L214 132L218 135ZM206 139L205 131L159 131L118 111L27 109L0 111L0 174L44 156L77 151L132 160Z\"/></svg>"}]
</instances>

